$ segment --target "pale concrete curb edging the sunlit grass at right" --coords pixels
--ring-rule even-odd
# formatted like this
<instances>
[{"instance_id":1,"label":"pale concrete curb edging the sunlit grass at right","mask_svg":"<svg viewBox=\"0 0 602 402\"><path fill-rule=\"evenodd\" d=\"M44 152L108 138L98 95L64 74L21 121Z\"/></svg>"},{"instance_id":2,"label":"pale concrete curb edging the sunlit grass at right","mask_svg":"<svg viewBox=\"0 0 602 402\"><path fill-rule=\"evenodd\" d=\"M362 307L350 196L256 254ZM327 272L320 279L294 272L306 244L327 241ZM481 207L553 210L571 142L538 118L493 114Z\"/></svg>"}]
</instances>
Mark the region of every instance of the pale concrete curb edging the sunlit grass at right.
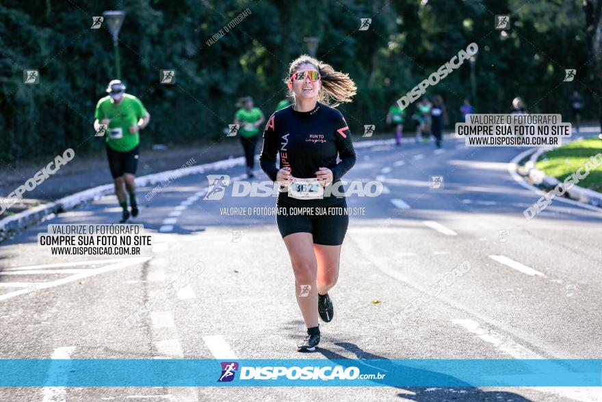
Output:
<instances>
[{"instance_id":1,"label":"pale concrete curb edging the sunlit grass at right","mask_svg":"<svg viewBox=\"0 0 602 402\"><path fill-rule=\"evenodd\" d=\"M525 172L523 172L525 173L524 176L529 177L534 186L542 188L546 191L554 190L554 188L558 186L561 181L555 177L546 175L545 172L540 171L535 167L535 165L542 153L545 153L551 149L553 149L553 147L540 148L535 151L525 163ZM566 190L565 195L568 199L572 199L573 201L579 201L594 207L602 208L602 194L594 190L590 190L589 188L583 188L575 185Z\"/></svg>"}]
</instances>

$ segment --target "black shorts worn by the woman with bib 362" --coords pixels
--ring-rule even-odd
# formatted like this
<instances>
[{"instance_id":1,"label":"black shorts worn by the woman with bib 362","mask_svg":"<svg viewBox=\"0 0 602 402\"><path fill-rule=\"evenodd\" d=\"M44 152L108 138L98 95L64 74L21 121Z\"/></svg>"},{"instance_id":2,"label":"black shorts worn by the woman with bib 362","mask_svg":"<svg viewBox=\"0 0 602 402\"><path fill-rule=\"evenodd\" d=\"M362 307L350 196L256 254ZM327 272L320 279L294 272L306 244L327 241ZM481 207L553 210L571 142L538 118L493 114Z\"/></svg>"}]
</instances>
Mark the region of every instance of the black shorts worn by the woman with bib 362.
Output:
<instances>
[{"instance_id":1,"label":"black shorts worn by the woman with bib 362","mask_svg":"<svg viewBox=\"0 0 602 402\"><path fill-rule=\"evenodd\" d=\"M278 201L276 223L283 238L293 233L311 233L314 244L340 246L347 233L349 216L347 202L341 199L334 205L312 207L302 211L299 206Z\"/></svg>"}]
</instances>

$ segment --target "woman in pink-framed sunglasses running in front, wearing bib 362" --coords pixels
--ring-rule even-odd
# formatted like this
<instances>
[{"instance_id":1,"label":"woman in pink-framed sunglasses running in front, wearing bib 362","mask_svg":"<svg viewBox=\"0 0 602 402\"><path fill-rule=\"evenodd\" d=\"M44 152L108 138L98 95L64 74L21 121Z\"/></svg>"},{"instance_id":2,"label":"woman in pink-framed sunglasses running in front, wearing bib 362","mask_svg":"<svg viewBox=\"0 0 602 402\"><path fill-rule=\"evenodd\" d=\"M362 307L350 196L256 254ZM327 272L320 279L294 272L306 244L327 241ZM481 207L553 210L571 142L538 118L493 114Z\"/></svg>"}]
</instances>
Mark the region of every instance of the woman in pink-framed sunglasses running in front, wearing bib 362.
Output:
<instances>
[{"instance_id":1,"label":"woman in pink-framed sunglasses running in front, wearing bib 362","mask_svg":"<svg viewBox=\"0 0 602 402\"><path fill-rule=\"evenodd\" d=\"M343 192L341 177L356 161L349 127L333 107L352 101L357 88L348 75L308 55L291 63L285 82L295 104L270 117L259 164L280 184L276 223L291 258L297 303L307 327L298 351L314 351L320 340L318 314L326 323L334 314L328 290L339 277L349 223L345 197L335 195ZM311 212L298 214L300 208Z\"/></svg>"}]
</instances>

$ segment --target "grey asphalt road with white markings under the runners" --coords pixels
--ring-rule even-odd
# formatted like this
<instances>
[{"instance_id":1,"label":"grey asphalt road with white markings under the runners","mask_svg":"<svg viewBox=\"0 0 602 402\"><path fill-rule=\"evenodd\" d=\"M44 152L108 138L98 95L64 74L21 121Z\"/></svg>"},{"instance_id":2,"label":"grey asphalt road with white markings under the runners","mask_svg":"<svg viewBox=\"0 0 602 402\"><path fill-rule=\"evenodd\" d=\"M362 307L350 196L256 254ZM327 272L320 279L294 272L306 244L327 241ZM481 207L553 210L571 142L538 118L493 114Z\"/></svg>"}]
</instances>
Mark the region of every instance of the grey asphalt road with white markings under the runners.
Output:
<instances>
[{"instance_id":1,"label":"grey asphalt road with white markings under the runners","mask_svg":"<svg viewBox=\"0 0 602 402\"><path fill-rule=\"evenodd\" d=\"M304 335L293 274L274 216L220 208L274 206L272 197L205 201L207 179L182 177L146 201L153 245L138 257L51 255L37 235L53 223L114 223L114 197L60 214L0 247L0 357L71 359L602 358L602 213L540 195L508 162L521 148L431 144L356 149L345 176L380 180L378 197L349 197L335 319L316 353ZM193 155L191 155L193 156ZM142 155L144 159L144 155ZM241 177L242 168L207 172ZM431 176L443 176L433 188ZM266 179L259 171L258 179ZM436 187L436 186L435 186ZM72 264L73 263L73 264ZM430 301L421 294L464 264ZM159 291L189 268L167 299ZM125 325L144 303L150 314ZM376 302L376 303L375 303ZM401 315L408 303L413 314ZM407 308L406 308L407 311ZM601 388L0 388L2 401L602 401Z\"/></svg>"}]
</instances>

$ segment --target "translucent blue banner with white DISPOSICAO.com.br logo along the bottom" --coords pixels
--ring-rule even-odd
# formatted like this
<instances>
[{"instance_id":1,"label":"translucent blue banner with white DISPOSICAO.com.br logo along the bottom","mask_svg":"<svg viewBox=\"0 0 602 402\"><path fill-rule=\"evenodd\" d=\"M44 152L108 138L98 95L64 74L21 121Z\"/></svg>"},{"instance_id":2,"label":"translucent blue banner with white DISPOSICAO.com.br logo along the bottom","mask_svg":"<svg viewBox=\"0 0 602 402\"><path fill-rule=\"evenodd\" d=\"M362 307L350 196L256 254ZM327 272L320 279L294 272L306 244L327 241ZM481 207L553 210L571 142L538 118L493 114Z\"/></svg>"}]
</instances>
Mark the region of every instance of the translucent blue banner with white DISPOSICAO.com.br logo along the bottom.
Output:
<instances>
[{"instance_id":1,"label":"translucent blue banner with white DISPOSICAO.com.br logo along the bottom","mask_svg":"<svg viewBox=\"0 0 602 402\"><path fill-rule=\"evenodd\" d=\"M0 386L602 386L602 360L0 360Z\"/></svg>"}]
</instances>

